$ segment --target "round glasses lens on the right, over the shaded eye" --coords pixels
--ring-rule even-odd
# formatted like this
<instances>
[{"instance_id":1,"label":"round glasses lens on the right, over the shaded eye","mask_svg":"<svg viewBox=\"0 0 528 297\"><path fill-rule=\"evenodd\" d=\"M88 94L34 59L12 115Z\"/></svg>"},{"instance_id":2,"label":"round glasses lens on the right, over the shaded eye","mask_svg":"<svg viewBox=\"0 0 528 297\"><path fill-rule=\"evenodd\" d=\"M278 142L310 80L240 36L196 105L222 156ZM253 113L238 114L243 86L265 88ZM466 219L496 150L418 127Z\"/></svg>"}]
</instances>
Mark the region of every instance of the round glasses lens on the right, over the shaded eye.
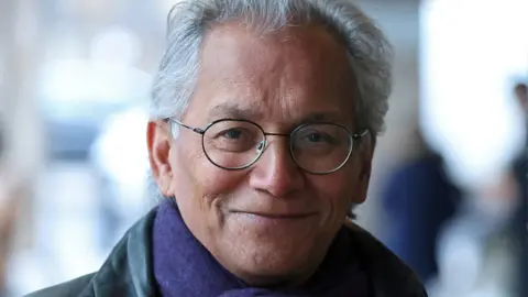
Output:
<instances>
[{"instance_id":1,"label":"round glasses lens on the right, over the shaded eye","mask_svg":"<svg viewBox=\"0 0 528 297\"><path fill-rule=\"evenodd\" d=\"M308 124L292 135L292 155L299 167L310 173L340 168L352 152L352 136L338 124Z\"/></svg>"}]
</instances>

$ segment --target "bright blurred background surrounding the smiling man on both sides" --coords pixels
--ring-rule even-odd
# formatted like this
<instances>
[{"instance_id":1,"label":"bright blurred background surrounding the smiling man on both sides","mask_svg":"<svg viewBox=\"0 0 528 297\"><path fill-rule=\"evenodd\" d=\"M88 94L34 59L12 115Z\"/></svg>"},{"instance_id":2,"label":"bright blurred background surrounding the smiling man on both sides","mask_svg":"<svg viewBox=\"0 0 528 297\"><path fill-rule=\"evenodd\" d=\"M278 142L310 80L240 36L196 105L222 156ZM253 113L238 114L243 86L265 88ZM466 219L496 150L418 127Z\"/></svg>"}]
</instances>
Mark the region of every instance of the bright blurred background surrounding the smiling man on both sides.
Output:
<instances>
[{"instance_id":1,"label":"bright blurred background surrounding the smiling man on both sides","mask_svg":"<svg viewBox=\"0 0 528 297\"><path fill-rule=\"evenodd\" d=\"M146 105L176 1L0 1L0 296L96 271L156 204ZM396 48L359 222L432 297L528 296L528 1L356 2Z\"/></svg>"}]
</instances>

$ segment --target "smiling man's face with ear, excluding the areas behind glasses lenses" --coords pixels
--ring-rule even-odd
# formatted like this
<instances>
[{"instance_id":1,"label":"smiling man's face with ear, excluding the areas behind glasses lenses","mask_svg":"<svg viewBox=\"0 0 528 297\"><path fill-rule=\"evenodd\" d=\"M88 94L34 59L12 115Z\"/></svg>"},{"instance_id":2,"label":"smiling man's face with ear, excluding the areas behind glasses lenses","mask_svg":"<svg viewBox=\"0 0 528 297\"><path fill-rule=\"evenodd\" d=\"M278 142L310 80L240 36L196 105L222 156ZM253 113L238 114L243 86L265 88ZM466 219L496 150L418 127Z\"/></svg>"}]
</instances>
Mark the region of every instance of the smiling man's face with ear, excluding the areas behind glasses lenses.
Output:
<instances>
[{"instance_id":1,"label":"smiling man's face with ear, excluding the areas behind glasses lenses","mask_svg":"<svg viewBox=\"0 0 528 297\"><path fill-rule=\"evenodd\" d=\"M267 132L289 133L317 116L359 132L354 81L345 48L322 28L262 35L231 23L206 35L182 121L205 128L244 118ZM308 277L351 205L366 197L369 134L340 170L312 175L295 165L285 138L270 138L250 168L226 170L206 157L199 134L184 129L173 140L167 130L150 123L151 164L162 193L176 197L185 223L211 254L252 284Z\"/></svg>"}]
</instances>

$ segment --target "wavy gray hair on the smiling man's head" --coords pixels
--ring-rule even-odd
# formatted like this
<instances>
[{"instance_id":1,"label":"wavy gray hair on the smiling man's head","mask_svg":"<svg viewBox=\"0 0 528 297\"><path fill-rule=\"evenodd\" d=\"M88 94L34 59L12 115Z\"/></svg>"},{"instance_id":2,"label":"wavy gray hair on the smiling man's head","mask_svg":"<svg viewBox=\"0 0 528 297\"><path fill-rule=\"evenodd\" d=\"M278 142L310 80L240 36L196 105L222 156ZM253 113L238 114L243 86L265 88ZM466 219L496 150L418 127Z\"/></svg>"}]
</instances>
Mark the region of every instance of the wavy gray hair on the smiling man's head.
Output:
<instances>
[{"instance_id":1,"label":"wavy gray hair on the smiling man's head","mask_svg":"<svg viewBox=\"0 0 528 297\"><path fill-rule=\"evenodd\" d=\"M272 32L310 22L326 25L348 48L358 79L356 117L374 134L384 130L392 89L392 46L351 0L193 0L168 14L167 48L154 79L151 119L180 118L199 72L205 33L232 20Z\"/></svg>"}]
</instances>

